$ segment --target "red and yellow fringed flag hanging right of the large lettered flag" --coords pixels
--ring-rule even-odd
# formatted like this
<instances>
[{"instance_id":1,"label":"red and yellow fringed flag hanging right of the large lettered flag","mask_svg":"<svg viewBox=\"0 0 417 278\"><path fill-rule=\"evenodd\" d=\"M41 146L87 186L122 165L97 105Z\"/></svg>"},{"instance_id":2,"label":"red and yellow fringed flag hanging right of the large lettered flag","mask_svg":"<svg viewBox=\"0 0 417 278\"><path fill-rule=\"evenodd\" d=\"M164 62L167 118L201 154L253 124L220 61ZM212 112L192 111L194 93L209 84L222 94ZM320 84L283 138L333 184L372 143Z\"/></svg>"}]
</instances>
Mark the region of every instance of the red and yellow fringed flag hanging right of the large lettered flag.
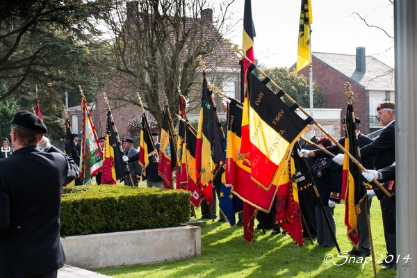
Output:
<instances>
[{"instance_id":1,"label":"red and yellow fringed flag hanging right of the large lettered flag","mask_svg":"<svg viewBox=\"0 0 417 278\"><path fill-rule=\"evenodd\" d=\"M296 174L293 157L295 156L291 156L290 161L286 163L284 174L279 182L277 205L275 207L275 224L279 224L293 238L295 244L303 246L298 189L294 179Z\"/></svg>"}]
</instances>

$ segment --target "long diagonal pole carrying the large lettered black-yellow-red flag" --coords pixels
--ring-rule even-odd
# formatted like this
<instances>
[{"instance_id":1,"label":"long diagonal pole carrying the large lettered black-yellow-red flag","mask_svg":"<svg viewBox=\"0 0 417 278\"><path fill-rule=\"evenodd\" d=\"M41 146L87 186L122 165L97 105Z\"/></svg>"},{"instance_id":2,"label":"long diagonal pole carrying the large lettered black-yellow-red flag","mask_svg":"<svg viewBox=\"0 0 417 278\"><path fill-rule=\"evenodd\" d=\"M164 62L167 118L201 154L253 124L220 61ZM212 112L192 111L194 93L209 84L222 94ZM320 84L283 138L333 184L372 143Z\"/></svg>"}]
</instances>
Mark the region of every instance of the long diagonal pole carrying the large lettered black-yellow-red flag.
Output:
<instances>
[{"instance_id":1,"label":"long diagonal pole carrying the large lettered black-yellow-red flag","mask_svg":"<svg viewBox=\"0 0 417 278\"><path fill-rule=\"evenodd\" d=\"M229 43L229 44L231 44L231 43ZM231 51L233 51L233 52L236 52L236 56L240 59L240 58L245 58L246 60L248 60L248 61L250 61L250 63L252 63L252 65L254 65L254 67L255 67L255 69L262 75L262 76L264 76L264 77L268 77L268 75L266 75L265 74L265 72L263 72L259 67L257 67L249 58L247 58L247 56L246 56L246 54L245 54L245 50L243 50L243 49L238 49L238 45L237 44L231 44L232 45L232 47L231 47ZM270 79L269 80L269 83L271 83L275 88L277 88L277 90L279 90L289 101L291 101L291 103L293 103L293 104L297 104L297 102L294 100L294 99L292 99L284 90L282 90L282 88L281 87L279 87L279 85L277 85L277 83L275 83L274 81L272 81L272 79ZM350 88L350 83L349 82L346 82L345 83L345 88L347 89L347 88ZM351 95L353 95L353 92L352 91L350 91L350 94ZM347 92L345 93L345 95L347 95ZM351 97L351 99L353 99L353 97ZM307 113L300 105L297 107L298 109L300 109L300 111L302 112L302 113L304 113L304 115L306 115L306 117L310 117L310 115L309 115L309 113ZM316 126L318 126L318 128L323 132L323 133L325 133L325 135L327 136L327 137L329 137L330 138L330 140L332 140L333 142L334 142L334 144L337 146L337 147L339 147L339 149L341 149L342 150L342 152L344 153L344 154L346 154L347 156L349 156L349 158L350 158L350 160L352 160L353 161L353 163L355 164L355 165L357 165L361 170L362 170L362 172L365 172L366 171L366 169L365 169L365 167L363 167L363 165L361 165L361 163L359 163L359 161L357 161L357 159L356 158L354 158L353 156L352 156L352 154L350 154L349 152L347 152L347 150L336 140L336 139L334 139L333 138L333 136L332 135L330 135L330 133L324 128L324 127L322 127L316 120L314 120L313 119L313 122L314 122L314 124L316 124ZM391 193L389 193L385 188L384 188L384 186L382 186L381 185L381 183L379 183L379 181L377 181L377 179L373 179L373 182L382 190L382 192L384 192L385 193L385 195L387 196L387 197L389 197L390 199L391 199L391 201L392 202L394 202L394 204L395 204L395 197L391 194Z\"/></svg>"}]
</instances>

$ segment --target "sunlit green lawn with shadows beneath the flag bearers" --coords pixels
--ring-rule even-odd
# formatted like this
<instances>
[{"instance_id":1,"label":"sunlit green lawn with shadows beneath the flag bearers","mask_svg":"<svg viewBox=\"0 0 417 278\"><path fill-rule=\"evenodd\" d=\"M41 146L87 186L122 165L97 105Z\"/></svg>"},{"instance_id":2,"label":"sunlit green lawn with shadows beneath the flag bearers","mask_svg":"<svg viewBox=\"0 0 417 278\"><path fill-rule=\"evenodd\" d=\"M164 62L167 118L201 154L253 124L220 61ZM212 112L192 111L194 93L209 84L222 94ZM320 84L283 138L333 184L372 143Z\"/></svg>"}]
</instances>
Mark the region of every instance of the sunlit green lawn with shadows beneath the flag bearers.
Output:
<instances>
[{"instance_id":1,"label":"sunlit green lawn with shadows beneath the flag bearers","mask_svg":"<svg viewBox=\"0 0 417 278\"><path fill-rule=\"evenodd\" d=\"M142 186L142 184L140 185ZM199 210L197 210L197 217ZM370 209L375 261L384 259L386 252L379 201L374 198ZM219 215L219 214L218 214ZM344 206L335 209L338 245L343 252L352 249L343 224ZM256 227L257 221L255 221ZM325 258L331 263L325 263ZM333 258L333 259L332 259ZM322 247L316 241L304 239L298 247L290 236L272 235L271 231L254 230L254 243L245 243L243 227L229 223L206 222L202 227L202 256L182 261L153 265L122 265L120 268L95 270L112 277L373 277L373 265L363 259L340 254L336 247ZM381 270L377 276L393 277L395 270Z\"/></svg>"}]
</instances>

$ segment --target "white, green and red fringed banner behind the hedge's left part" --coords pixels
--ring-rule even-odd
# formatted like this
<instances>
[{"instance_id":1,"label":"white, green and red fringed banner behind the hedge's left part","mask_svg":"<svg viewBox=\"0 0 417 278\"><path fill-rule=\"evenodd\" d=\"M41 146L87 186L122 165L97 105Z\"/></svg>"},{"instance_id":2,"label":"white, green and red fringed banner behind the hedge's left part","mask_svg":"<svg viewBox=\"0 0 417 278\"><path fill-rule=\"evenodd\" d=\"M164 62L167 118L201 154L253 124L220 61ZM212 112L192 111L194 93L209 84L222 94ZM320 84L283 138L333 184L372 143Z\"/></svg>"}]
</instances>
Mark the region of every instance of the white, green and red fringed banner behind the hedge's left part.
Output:
<instances>
[{"instance_id":1,"label":"white, green and red fringed banner behind the hedge's left part","mask_svg":"<svg viewBox=\"0 0 417 278\"><path fill-rule=\"evenodd\" d=\"M81 97L81 110L83 111L83 143L81 144L80 177L83 179L83 184L89 185L92 177L103 167L103 153L85 97Z\"/></svg>"}]
</instances>

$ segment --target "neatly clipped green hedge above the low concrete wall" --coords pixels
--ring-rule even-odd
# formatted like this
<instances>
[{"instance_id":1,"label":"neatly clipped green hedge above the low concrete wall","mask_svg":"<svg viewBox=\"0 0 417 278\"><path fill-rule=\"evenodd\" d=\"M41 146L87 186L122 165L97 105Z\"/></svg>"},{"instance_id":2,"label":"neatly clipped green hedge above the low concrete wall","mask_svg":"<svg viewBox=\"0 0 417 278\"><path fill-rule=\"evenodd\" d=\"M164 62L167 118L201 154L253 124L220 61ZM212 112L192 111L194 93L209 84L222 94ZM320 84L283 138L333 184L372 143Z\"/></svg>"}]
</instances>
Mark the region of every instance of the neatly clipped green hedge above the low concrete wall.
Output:
<instances>
[{"instance_id":1,"label":"neatly clipped green hedge above the low concrete wall","mask_svg":"<svg viewBox=\"0 0 417 278\"><path fill-rule=\"evenodd\" d=\"M130 186L63 189L61 236L178 227L190 219L190 193Z\"/></svg>"}]
</instances>

